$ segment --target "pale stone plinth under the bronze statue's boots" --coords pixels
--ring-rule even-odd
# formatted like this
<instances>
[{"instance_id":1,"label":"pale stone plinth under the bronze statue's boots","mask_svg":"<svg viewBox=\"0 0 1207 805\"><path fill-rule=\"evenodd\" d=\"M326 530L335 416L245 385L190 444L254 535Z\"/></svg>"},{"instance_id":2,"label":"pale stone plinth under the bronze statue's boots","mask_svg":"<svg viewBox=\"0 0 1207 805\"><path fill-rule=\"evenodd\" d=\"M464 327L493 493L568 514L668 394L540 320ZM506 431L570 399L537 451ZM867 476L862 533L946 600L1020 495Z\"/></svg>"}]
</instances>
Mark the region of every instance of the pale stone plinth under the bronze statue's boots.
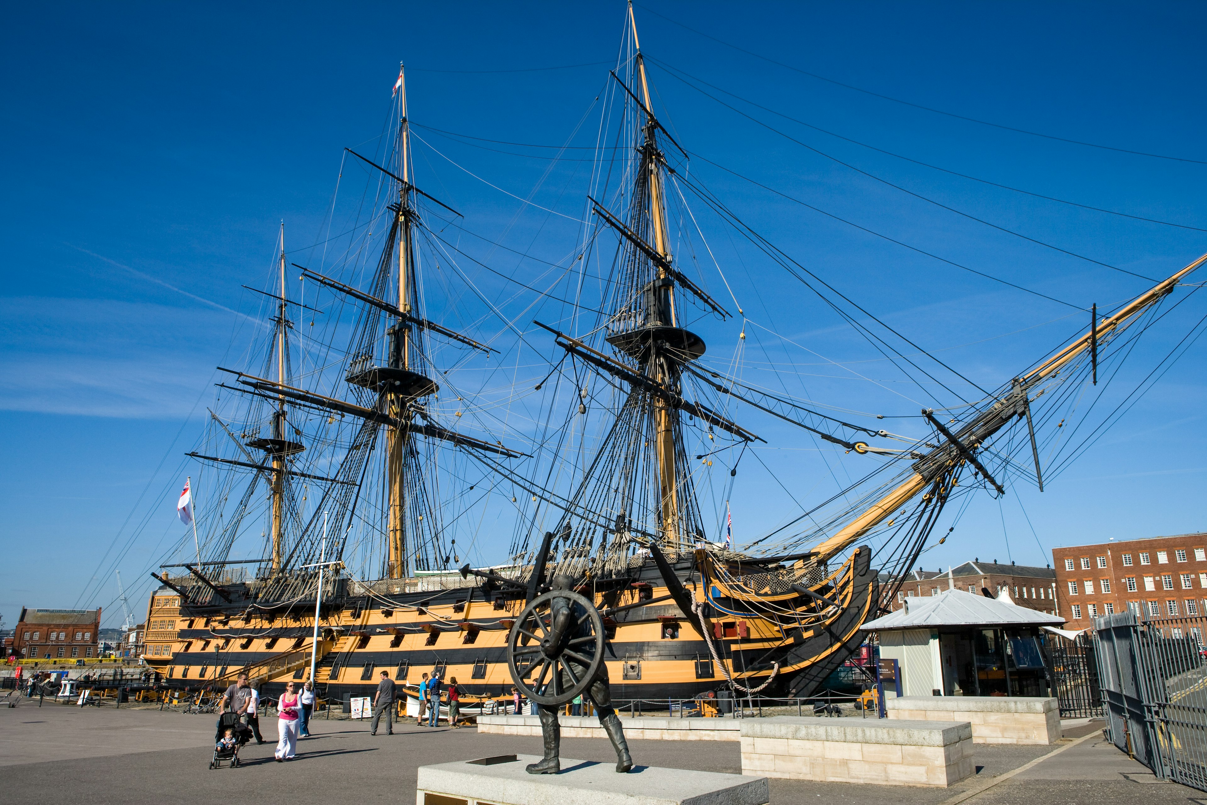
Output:
<instances>
[{"instance_id":1,"label":"pale stone plinth under the bronze statue's boots","mask_svg":"<svg viewBox=\"0 0 1207 805\"><path fill-rule=\"evenodd\" d=\"M514 758L514 759L512 759ZM766 805L766 777L561 758L561 772L530 775L537 756L503 756L419 766L415 805Z\"/></svg>"}]
</instances>

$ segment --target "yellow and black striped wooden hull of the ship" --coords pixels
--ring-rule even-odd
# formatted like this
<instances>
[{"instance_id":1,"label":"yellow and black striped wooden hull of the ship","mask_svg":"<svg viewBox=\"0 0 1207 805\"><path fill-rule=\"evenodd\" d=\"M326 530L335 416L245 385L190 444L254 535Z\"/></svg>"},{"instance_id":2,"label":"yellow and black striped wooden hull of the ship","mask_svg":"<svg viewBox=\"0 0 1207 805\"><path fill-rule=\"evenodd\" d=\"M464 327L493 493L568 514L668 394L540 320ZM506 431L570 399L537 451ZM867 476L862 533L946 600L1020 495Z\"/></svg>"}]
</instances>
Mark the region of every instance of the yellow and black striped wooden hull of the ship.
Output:
<instances>
[{"instance_id":1,"label":"yellow and black striped wooden hull of the ship","mask_svg":"<svg viewBox=\"0 0 1207 805\"><path fill-rule=\"evenodd\" d=\"M613 698L622 704L636 700L658 706L669 699L728 689L727 672L746 687L770 679L760 695L807 696L862 642L859 626L875 611L877 599L876 573L867 548L817 585L820 594L836 597L841 607L830 608L810 630L750 612L741 595L716 581L705 590L706 579L698 572L695 556L675 562L672 570L681 581L696 577L686 589L698 599L707 595L702 611L710 640L705 640L699 618L693 623L677 603L666 600L670 590L653 561L595 595L601 609L665 600L607 620L614 636L605 661ZM379 582L372 590L340 579L328 588L315 673L320 695L336 700L372 695L383 670L410 688L419 684L422 673L438 671L445 681L456 677L471 701L509 700L507 635L524 606L523 597L484 594L478 585L401 591L433 581L445 579ZM286 682L309 678L313 601L298 602L276 617L245 618L246 602L240 599L247 595L250 601L253 595L247 585L223 590L234 599L231 603L206 590L217 602L208 600L198 606L181 605L180 591L198 600L204 587L186 579L171 584L175 589L164 587L154 594L150 616L156 622L174 620L179 629L151 634L163 653L152 649L146 657L167 687L220 689L247 672L263 682L267 695L275 695ZM775 597L806 618L817 617L816 602L806 596L788 593ZM719 664L712 660L713 652Z\"/></svg>"}]
</instances>

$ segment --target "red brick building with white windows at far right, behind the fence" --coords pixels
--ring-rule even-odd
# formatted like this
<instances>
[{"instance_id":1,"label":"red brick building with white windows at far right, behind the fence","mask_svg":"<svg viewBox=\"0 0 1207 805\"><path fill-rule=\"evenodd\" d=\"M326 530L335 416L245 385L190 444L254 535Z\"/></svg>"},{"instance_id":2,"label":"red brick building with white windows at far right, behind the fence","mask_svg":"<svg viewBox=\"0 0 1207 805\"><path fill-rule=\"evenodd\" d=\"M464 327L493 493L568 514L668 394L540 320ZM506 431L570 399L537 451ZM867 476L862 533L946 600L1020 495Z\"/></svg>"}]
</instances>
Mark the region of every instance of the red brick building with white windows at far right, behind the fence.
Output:
<instances>
[{"instance_id":1,"label":"red brick building with white windows at far right, behind the fence","mask_svg":"<svg viewBox=\"0 0 1207 805\"><path fill-rule=\"evenodd\" d=\"M1149 618L1207 614L1207 533L1053 548L1067 629L1131 609Z\"/></svg>"}]
</instances>

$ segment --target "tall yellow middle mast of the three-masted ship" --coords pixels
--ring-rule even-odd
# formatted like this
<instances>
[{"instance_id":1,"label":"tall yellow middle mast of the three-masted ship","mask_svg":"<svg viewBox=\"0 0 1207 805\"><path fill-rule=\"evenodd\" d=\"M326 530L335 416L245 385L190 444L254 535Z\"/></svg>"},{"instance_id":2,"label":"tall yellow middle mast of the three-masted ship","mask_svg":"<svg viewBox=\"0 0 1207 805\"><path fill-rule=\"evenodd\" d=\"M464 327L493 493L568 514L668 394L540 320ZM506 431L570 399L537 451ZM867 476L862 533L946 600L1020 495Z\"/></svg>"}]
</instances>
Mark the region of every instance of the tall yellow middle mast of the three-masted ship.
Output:
<instances>
[{"instance_id":1,"label":"tall yellow middle mast of the three-masted ship","mask_svg":"<svg viewBox=\"0 0 1207 805\"><path fill-rule=\"evenodd\" d=\"M410 183L410 127L407 121L407 80L403 65L398 65L398 165L402 183L398 187L398 309L403 314L412 313L412 292L415 275L415 252ZM412 322L400 319L389 331L390 367L409 372ZM409 422L412 418L408 397L391 392L389 395L390 415ZM409 430L391 427L386 433L386 473L390 489L389 503L389 558L386 578L406 578L407 576L407 486L406 465Z\"/></svg>"}]
</instances>

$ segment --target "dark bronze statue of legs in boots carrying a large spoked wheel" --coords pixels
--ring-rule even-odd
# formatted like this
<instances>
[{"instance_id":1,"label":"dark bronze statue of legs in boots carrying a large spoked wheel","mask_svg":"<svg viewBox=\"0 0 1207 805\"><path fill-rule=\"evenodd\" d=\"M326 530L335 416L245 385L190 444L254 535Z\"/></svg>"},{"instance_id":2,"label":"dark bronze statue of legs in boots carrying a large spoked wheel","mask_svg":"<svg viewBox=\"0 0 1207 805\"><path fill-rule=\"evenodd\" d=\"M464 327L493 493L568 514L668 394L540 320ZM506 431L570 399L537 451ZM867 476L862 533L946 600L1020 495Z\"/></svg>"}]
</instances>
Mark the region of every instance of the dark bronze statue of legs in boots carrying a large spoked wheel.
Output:
<instances>
[{"instance_id":1,"label":"dark bronze statue of legs in boots carrying a large spoked wheel","mask_svg":"<svg viewBox=\"0 0 1207 805\"><path fill-rule=\"evenodd\" d=\"M616 749L616 770L632 768L620 717L612 708L607 666L604 664L604 618L587 597L573 591L573 581L559 576L553 589L529 601L507 636L507 665L512 681L540 708L544 757L529 764L533 775L561 770L558 747L561 727L558 711L578 695L595 704L600 724Z\"/></svg>"}]
</instances>

